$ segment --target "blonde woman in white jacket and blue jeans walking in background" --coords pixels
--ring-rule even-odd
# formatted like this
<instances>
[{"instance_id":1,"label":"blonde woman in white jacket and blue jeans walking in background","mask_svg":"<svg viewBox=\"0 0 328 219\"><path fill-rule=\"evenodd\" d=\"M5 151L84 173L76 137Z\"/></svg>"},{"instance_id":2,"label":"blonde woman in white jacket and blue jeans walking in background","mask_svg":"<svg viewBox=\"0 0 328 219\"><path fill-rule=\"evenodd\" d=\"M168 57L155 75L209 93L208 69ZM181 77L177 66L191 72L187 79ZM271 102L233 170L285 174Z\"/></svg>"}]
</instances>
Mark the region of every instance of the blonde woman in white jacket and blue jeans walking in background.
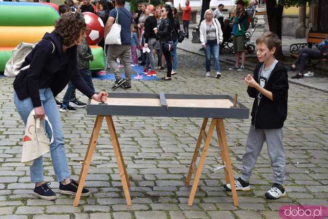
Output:
<instances>
[{"instance_id":1,"label":"blonde woman in white jacket and blue jeans walking in background","mask_svg":"<svg viewBox=\"0 0 328 219\"><path fill-rule=\"evenodd\" d=\"M211 76L211 55L214 60L216 78L221 77L219 62L219 45L223 41L221 25L216 18L213 18L213 11L205 11L204 20L200 23L200 42L205 50L206 56L206 76Z\"/></svg>"}]
</instances>

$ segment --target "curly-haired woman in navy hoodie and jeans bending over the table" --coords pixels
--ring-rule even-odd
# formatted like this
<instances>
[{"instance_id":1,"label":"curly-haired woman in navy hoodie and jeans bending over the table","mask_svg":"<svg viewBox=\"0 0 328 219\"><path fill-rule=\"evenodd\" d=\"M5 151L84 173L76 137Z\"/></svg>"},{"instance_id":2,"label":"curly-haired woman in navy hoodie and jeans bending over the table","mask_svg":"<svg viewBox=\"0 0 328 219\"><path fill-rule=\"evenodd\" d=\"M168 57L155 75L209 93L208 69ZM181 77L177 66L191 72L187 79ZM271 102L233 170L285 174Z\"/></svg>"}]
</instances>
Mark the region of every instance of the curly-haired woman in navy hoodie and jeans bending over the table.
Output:
<instances>
[{"instance_id":1,"label":"curly-haired woman in navy hoodie and jeans bending over the table","mask_svg":"<svg viewBox=\"0 0 328 219\"><path fill-rule=\"evenodd\" d=\"M24 124L33 108L36 118L44 119L47 115L52 124L54 141L50 145L50 154L61 194L75 195L78 184L70 178L63 126L54 97L71 81L89 98L99 102L107 99L106 92L95 94L77 70L76 45L86 37L86 31L82 13L65 13L56 21L55 30L46 33L26 57L22 67L30 64L30 68L19 73L14 81L14 103ZM51 137L47 125L46 132ZM31 182L35 183L33 195L55 200L56 194L49 187L50 183L44 182L42 156L34 160L30 173ZM89 194L89 190L84 188L81 196Z\"/></svg>"}]
</instances>

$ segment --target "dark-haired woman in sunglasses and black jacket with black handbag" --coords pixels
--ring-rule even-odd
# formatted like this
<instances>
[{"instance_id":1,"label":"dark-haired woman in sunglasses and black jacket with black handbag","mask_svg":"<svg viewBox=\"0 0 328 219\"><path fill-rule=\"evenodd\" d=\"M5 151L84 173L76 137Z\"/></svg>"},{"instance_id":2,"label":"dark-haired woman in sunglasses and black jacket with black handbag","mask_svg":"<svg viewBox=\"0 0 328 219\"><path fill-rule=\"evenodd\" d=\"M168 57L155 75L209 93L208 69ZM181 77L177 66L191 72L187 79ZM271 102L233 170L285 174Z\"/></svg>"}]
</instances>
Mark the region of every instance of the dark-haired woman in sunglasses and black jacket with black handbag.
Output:
<instances>
[{"instance_id":1,"label":"dark-haired woman in sunglasses and black jacket with black handbag","mask_svg":"<svg viewBox=\"0 0 328 219\"><path fill-rule=\"evenodd\" d=\"M162 52L168 65L167 75L165 77L162 77L161 80L171 81L172 60L171 60L170 52L173 47L172 36L171 36L173 30L173 14L172 14L171 7L170 6L163 7L161 10L161 15L163 19L158 27L157 36L159 38L159 41L161 42Z\"/></svg>"}]
</instances>

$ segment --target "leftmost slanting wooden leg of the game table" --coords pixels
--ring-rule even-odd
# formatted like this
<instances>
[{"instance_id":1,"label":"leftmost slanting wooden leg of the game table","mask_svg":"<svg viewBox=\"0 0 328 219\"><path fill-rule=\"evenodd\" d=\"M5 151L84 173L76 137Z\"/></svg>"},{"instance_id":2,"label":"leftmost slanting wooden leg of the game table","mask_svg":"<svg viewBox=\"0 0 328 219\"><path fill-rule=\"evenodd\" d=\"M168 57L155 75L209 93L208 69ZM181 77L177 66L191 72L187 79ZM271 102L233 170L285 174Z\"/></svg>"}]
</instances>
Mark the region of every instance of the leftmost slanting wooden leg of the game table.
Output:
<instances>
[{"instance_id":1,"label":"leftmost slanting wooden leg of the game table","mask_svg":"<svg viewBox=\"0 0 328 219\"><path fill-rule=\"evenodd\" d=\"M101 124L103 123L103 120L104 120L104 116L97 116L96 120L94 122L88 150L87 150L86 156L84 158L83 166L82 166L80 176L78 179L78 188L77 188L77 192L75 195L75 200L74 200L74 204L73 204L74 206L78 206L78 203L80 201L82 189L84 187L84 183L87 178L88 169L90 167L93 151L94 151L94 148L96 147L96 143L98 140L98 136L99 136L99 132L100 132L100 128L101 128Z\"/></svg>"}]
</instances>

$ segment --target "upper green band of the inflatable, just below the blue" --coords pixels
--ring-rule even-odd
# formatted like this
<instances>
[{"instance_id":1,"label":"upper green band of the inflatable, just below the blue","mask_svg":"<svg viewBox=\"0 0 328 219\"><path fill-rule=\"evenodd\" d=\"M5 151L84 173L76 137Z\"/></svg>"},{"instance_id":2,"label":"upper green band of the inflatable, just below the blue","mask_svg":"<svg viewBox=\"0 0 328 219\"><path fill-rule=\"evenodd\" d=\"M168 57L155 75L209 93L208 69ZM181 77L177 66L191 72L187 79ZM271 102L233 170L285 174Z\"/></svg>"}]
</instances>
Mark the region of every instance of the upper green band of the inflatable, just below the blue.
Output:
<instances>
[{"instance_id":1,"label":"upper green band of the inflatable, just below the blue","mask_svg":"<svg viewBox=\"0 0 328 219\"><path fill-rule=\"evenodd\" d=\"M0 4L0 26L53 26L58 18L58 12L49 6Z\"/></svg>"}]
</instances>

